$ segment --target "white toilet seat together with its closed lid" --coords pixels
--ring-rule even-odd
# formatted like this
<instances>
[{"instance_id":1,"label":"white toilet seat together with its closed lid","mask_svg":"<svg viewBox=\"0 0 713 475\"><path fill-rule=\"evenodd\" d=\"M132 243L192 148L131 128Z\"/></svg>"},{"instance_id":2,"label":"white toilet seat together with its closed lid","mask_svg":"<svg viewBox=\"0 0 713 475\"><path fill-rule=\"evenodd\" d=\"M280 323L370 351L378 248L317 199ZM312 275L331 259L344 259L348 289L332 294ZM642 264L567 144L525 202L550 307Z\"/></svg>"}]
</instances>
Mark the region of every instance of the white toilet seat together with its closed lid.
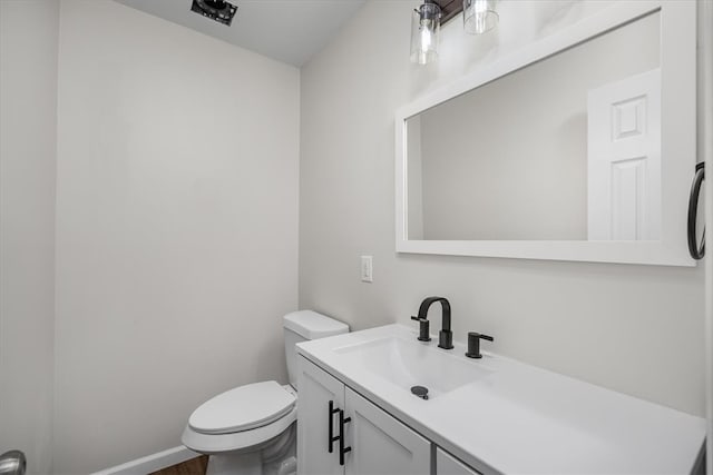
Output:
<instances>
[{"instance_id":1,"label":"white toilet seat together with its closed lid","mask_svg":"<svg viewBox=\"0 0 713 475\"><path fill-rule=\"evenodd\" d=\"M252 387L246 390L237 390L248 388L251 386L257 387ZM229 396L225 396L226 400L218 399L217 404L208 405L208 403L212 403L228 393L232 394ZM254 399L250 397L241 399L240 396L255 396L257 394L264 394L265 399L270 399L274 404L264 404L260 407L260 414L253 413L253 417L246 416L245 414L251 412L247 404L251 400L254 402ZM290 397L292 399L290 399ZM280 436L297 419L296 399L297 394L292 386L280 386L276 382L255 383L231 389L207 400L201 407L208 405L207 408L212 410L206 412L206 414L214 414L214 410L217 412L217 408L221 407L223 403L231 400L240 407L240 409L235 409L235 417L232 422L217 422L211 425L209 417L207 418L208 423L206 424L206 419L203 417L193 419L192 415L191 417L193 420L189 419L191 422L186 425L180 441L186 447L202 454L219 454L240 449L254 451L261 445L267 444L275 437ZM198 409L201 409L201 407L198 407ZM196 409L194 414L197 413L198 409ZM193 427L194 423L196 427ZM223 428L219 426L223 426ZM228 431L226 427L232 427L233 432L215 432ZM206 429L213 429L214 432L207 433L205 432Z\"/></svg>"}]
</instances>

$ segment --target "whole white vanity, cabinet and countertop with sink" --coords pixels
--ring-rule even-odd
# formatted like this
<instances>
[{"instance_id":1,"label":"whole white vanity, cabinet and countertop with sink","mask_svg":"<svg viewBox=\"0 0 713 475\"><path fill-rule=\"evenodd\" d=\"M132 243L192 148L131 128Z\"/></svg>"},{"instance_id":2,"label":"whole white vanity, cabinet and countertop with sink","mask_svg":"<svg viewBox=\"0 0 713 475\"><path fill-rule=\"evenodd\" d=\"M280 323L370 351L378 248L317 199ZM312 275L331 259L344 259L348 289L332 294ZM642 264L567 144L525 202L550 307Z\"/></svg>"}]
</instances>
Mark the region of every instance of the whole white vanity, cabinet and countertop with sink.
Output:
<instances>
[{"instance_id":1,"label":"whole white vanity, cabinet and countertop with sink","mask_svg":"<svg viewBox=\"0 0 713 475\"><path fill-rule=\"evenodd\" d=\"M700 461L702 417L417 336L394 324L297 345L299 473L683 474ZM344 465L341 438L329 453L340 415Z\"/></svg>"}]
</instances>

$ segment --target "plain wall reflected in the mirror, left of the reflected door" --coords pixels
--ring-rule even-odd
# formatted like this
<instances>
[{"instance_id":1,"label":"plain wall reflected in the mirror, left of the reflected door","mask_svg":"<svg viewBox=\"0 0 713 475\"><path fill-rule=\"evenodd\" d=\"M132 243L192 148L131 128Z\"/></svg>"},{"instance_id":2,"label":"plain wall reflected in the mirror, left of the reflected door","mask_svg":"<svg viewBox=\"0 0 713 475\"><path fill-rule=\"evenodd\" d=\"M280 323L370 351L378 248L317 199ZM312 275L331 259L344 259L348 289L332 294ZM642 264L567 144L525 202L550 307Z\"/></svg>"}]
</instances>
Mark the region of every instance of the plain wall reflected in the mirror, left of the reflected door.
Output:
<instances>
[{"instance_id":1,"label":"plain wall reflected in the mirror, left of the reflected door","mask_svg":"<svg viewBox=\"0 0 713 475\"><path fill-rule=\"evenodd\" d=\"M588 92L658 68L660 24L647 16L421 113L424 238L586 240Z\"/></svg>"}]
</instances>

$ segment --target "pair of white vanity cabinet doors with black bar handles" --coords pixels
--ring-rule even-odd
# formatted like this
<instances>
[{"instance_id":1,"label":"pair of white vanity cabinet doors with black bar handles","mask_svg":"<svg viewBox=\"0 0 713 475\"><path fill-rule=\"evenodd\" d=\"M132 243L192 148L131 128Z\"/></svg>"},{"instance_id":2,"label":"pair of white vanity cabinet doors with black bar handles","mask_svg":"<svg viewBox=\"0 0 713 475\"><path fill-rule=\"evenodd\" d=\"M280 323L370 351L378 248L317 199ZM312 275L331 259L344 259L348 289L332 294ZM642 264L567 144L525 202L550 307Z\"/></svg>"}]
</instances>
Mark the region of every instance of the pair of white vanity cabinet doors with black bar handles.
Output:
<instances>
[{"instance_id":1,"label":"pair of white vanity cabinet doors with black bar handles","mask_svg":"<svg viewBox=\"0 0 713 475\"><path fill-rule=\"evenodd\" d=\"M299 365L299 474L430 474L428 439L304 357Z\"/></svg>"}]
</instances>

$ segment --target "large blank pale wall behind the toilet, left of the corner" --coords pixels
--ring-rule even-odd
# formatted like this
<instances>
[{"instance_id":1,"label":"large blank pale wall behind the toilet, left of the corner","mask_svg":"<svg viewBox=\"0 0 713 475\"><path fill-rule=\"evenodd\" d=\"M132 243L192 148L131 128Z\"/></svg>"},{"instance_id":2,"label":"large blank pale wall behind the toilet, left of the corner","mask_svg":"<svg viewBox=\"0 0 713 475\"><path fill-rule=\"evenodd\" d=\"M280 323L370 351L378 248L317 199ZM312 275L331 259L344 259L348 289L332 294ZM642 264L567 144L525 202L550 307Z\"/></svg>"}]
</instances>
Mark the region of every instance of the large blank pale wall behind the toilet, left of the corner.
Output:
<instances>
[{"instance_id":1,"label":"large blank pale wall behind the toilet, left of the corner","mask_svg":"<svg viewBox=\"0 0 713 475\"><path fill-rule=\"evenodd\" d=\"M60 14L55 472L180 444L285 382L299 70L107 0Z\"/></svg>"}]
</instances>

